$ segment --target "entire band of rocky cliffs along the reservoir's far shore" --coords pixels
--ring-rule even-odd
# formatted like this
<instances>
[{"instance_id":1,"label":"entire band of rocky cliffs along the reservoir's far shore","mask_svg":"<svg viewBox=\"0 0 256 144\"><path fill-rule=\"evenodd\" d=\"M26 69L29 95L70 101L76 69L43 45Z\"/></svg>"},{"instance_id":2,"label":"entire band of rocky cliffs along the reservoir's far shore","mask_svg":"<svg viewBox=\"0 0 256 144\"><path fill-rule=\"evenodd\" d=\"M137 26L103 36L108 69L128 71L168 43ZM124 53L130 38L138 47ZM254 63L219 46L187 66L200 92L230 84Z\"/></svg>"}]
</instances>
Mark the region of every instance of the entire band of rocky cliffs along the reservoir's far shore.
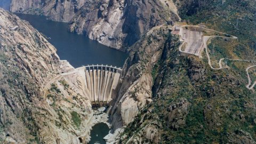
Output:
<instances>
[{"instance_id":1,"label":"entire band of rocky cliffs along the reservoir's far shore","mask_svg":"<svg viewBox=\"0 0 256 144\"><path fill-rule=\"evenodd\" d=\"M180 19L172 0L12 0L10 11L70 22L69 31L116 49L131 46L155 26Z\"/></svg>"}]
</instances>

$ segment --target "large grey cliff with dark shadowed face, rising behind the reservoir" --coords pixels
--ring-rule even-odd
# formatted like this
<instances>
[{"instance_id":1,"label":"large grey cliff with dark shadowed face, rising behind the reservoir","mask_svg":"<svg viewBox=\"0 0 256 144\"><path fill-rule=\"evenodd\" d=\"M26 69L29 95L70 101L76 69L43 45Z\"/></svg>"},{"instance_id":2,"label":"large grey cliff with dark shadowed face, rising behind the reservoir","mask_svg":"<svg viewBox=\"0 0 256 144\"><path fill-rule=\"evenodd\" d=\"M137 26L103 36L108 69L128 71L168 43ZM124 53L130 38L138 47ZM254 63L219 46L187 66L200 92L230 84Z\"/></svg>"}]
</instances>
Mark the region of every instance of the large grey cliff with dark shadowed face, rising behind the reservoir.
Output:
<instances>
[{"instance_id":1,"label":"large grey cliff with dark shadowed face, rising behind the reservoir","mask_svg":"<svg viewBox=\"0 0 256 144\"><path fill-rule=\"evenodd\" d=\"M155 26L179 20L172 1L110 0L97 5L86 3L71 20L69 31L117 49L131 46Z\"/></svg>"}]
</instances>

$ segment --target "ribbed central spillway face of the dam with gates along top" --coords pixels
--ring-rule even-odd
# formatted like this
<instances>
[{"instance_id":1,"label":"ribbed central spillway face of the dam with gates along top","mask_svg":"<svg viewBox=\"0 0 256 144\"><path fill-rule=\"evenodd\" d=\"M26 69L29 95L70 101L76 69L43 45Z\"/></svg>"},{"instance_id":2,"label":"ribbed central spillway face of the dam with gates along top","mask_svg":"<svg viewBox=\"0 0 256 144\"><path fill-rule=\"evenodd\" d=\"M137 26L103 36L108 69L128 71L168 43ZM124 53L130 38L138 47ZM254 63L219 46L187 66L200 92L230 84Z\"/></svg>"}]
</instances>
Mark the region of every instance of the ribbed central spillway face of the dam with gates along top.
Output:
<instances>
[{"instance_id":1,"label":"ribbed central spillway face of the dam with gates along top","mask_svg":"<svg viewBox=\"0 0 256 144\"><path fill-rule=\"evenodd\" d=\"M121 68L92 65L84 67L85 95L90 99L92 107L105 106L115 99Z\"/></svg>"}]
</instances>

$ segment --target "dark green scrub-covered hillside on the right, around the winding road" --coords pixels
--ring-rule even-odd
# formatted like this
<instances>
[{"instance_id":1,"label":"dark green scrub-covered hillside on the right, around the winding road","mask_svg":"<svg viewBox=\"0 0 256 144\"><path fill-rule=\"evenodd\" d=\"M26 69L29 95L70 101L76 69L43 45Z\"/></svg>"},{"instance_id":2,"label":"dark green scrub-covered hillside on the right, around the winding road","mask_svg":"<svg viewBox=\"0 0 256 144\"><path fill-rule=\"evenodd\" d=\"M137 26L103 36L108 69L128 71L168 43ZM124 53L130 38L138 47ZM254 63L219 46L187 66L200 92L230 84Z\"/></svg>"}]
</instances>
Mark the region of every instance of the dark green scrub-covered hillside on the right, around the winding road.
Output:
<instances>
[{"instance_id":1,"label":"dark green scrub-covered hillside on the right, around the winding road","mask_svg":"<svg viewBox=\"0 0 256 144\"><path fill-rule=\"evenodd\" d=\"M190 25L203 23L207 28L238 37L234 41L213 39L216 56L220 53L222 58L226 54L255 60L254 1L174 3L180 17ZM162 33L169 31L162 29ZM160 36L161 33L152 35L134 45L134 49L138 45L143 47L146 42L154 43L157 39L152 38ZM165 43L158 45L162 56L152 70L147 69L153 77L154 102L141 109L127 125L120 142L255 143L255 90L246 89L245 71L255 63L229 60L227 67L214 70L208 65L205 52L200 60L180 57L179 38L175 35L162 37ZM138 53L140 56L147 54L143 49Z\"/></svg>"}]
</instances>

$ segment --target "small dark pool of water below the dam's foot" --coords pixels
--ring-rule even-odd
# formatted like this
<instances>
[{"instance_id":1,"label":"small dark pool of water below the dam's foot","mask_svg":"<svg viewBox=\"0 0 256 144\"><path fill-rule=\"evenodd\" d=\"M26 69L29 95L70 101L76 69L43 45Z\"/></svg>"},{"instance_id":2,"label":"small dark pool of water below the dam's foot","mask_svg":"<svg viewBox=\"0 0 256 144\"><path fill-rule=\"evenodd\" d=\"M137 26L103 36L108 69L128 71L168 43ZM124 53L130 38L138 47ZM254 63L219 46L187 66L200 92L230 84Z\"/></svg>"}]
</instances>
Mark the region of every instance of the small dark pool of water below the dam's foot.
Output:
<instances>
[{"instance_id":1,"label":"small dark pool of water below the dam's foot","mask_svg":"<svg viewBox=\"0 0 256 144\"><path fill-rule=\"evenodd\" d=\"M91 130L91 141L89 144L100 143L105 144L106 141L103 138L109 133L109 127L105 123L98 123L92 127ZM98 136L97 136L98 134Z\"/></svg>"}]
</instances>

